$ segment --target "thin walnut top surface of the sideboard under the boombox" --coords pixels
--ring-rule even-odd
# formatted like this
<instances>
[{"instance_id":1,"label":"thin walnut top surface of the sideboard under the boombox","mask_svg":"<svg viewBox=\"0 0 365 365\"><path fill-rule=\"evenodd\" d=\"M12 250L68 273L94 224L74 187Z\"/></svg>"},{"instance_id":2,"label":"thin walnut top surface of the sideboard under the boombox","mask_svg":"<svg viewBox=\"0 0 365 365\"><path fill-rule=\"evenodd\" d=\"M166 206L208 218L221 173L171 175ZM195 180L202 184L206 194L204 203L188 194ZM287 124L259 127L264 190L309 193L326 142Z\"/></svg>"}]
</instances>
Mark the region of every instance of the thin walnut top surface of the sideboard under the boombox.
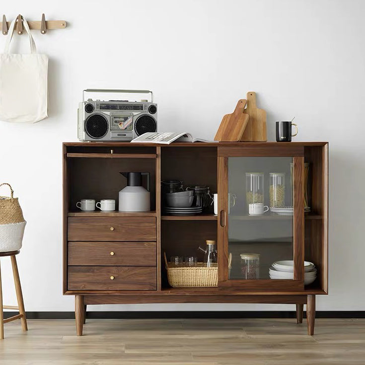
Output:
<instances>
[{"instance_id":1,"label":"thin walnut top surface of the sideboard under the boombox","mask_svg":"<svg viewBox=\"0 0 365 365\"><path fill-rule=\"evenodd\" d=\"M232 147L232 146L325 146L328 142L184 142L171 143L170 145L156 143L130 143L130 142L64 142L64 146L119 146L119 147Z\"/></svg>"}]
</instances>

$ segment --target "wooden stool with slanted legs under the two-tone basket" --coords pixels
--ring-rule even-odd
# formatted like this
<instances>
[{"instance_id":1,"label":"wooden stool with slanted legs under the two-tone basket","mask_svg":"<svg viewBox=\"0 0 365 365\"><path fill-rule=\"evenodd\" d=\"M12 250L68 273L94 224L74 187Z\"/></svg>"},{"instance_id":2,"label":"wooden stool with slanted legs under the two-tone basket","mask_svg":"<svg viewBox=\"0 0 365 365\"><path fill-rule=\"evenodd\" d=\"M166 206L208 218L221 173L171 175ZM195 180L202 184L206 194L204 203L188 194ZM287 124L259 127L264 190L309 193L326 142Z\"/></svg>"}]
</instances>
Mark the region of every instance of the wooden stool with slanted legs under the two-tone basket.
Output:
<instances>
[{"instance_id":1,"label":"wooden stool with slanted legs under the two-tone basket","mask_svg":"<svg viewBox=\"0 0 365 365\"><path fill-rule=\"evenodd\" d=\"M20 318L21 328L23 329L23 331L28 330L27 319L25 317L25 311L24 311L23 294L21 293L18 266L16 265L16 258L15 258L15 255L17 255L19 252L20 251L0 252L0 257L1 256L10 256L11 267L13 269L16 298L18 300L17 307L12 306L12 305L2 305L1 267L0 267L0 340L2 340L4 338L4 323L14 321L15 319ZM3 309L15 309L15 310L19 311L19 314L4 319Z\"/></svg>"}]
</instances>

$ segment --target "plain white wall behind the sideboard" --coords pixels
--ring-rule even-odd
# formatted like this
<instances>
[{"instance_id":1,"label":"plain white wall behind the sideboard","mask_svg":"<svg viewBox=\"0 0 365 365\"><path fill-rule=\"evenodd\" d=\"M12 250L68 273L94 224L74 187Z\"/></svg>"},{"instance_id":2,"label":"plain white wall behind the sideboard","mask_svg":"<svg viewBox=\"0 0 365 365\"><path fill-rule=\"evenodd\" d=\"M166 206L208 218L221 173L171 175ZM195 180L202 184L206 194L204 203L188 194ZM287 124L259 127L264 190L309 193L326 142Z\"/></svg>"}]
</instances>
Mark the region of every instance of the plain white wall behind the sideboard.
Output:
<instances>
[{"instance_id":1,"label":"plain white wall behind the sideboard","mask_svg":"<svg viewBox=\"0 0 365 365\"><path fill-rule=\"evenodd\" d=\"M107 87L153 90L160 131L209 139L237 99L253 90L267 110L269 140L276 120L296 116L295 141L329 141L330 294L317 307L364 310L364 11L361 0L2 1L8 19L21 12L37 20L44 12L68 22L44 36L32 31L50 58L50 118L0 122L0 181L12 184L28 221L18 256L26 309L73 310L73 297L62 296L61 144L76 141L81 90ZM25 37L15 37L22 49ZM0 35L0 49L4 41ZM4 300L15 303L7 258L1 265Z\"/></svg>"}]
</instances>

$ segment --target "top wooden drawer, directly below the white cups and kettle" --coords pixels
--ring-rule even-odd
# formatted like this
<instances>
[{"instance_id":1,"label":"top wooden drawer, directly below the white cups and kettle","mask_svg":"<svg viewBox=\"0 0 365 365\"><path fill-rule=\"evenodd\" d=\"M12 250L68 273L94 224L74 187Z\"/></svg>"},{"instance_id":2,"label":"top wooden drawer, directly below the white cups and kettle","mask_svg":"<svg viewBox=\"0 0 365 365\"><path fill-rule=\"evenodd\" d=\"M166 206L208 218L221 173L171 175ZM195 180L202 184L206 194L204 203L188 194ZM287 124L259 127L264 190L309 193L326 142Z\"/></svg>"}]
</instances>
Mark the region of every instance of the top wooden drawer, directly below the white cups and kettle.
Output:
<instances>
[{"instance_id":1,"label":"top wooden drawer, directly below the white cups and kettle","mask_svg":"<svg viewBox=\"0 0 365 365\"><path fill-rule=\"evenodd\" d=\"M155 241L153 217L71 217L69 241Z\"/></svg>"}]
</instances>

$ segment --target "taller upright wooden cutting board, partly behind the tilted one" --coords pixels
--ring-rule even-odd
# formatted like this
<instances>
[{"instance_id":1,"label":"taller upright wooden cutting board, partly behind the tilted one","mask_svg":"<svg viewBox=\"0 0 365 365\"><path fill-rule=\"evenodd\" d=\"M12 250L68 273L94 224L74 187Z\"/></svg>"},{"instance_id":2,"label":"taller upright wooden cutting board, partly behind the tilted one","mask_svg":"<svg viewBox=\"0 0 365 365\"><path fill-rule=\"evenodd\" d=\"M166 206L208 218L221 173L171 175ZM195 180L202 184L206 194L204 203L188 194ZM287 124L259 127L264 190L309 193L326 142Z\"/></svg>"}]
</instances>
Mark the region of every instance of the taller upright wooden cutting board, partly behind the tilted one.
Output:
<instances>
[{"instance_id":1,"label":"taller upright wooden cutting board, partly behind the tilted one","mask_svg":"<svg viewBox=\"0 0 365 365\"><path fill-rule=\"evenodd\" d=\"M240 141L243 142L266 142L266 111L256 105L256 93L247 93L247 108L245 114L250 116L249 122Z\"/></svg>"}]
</instances>

